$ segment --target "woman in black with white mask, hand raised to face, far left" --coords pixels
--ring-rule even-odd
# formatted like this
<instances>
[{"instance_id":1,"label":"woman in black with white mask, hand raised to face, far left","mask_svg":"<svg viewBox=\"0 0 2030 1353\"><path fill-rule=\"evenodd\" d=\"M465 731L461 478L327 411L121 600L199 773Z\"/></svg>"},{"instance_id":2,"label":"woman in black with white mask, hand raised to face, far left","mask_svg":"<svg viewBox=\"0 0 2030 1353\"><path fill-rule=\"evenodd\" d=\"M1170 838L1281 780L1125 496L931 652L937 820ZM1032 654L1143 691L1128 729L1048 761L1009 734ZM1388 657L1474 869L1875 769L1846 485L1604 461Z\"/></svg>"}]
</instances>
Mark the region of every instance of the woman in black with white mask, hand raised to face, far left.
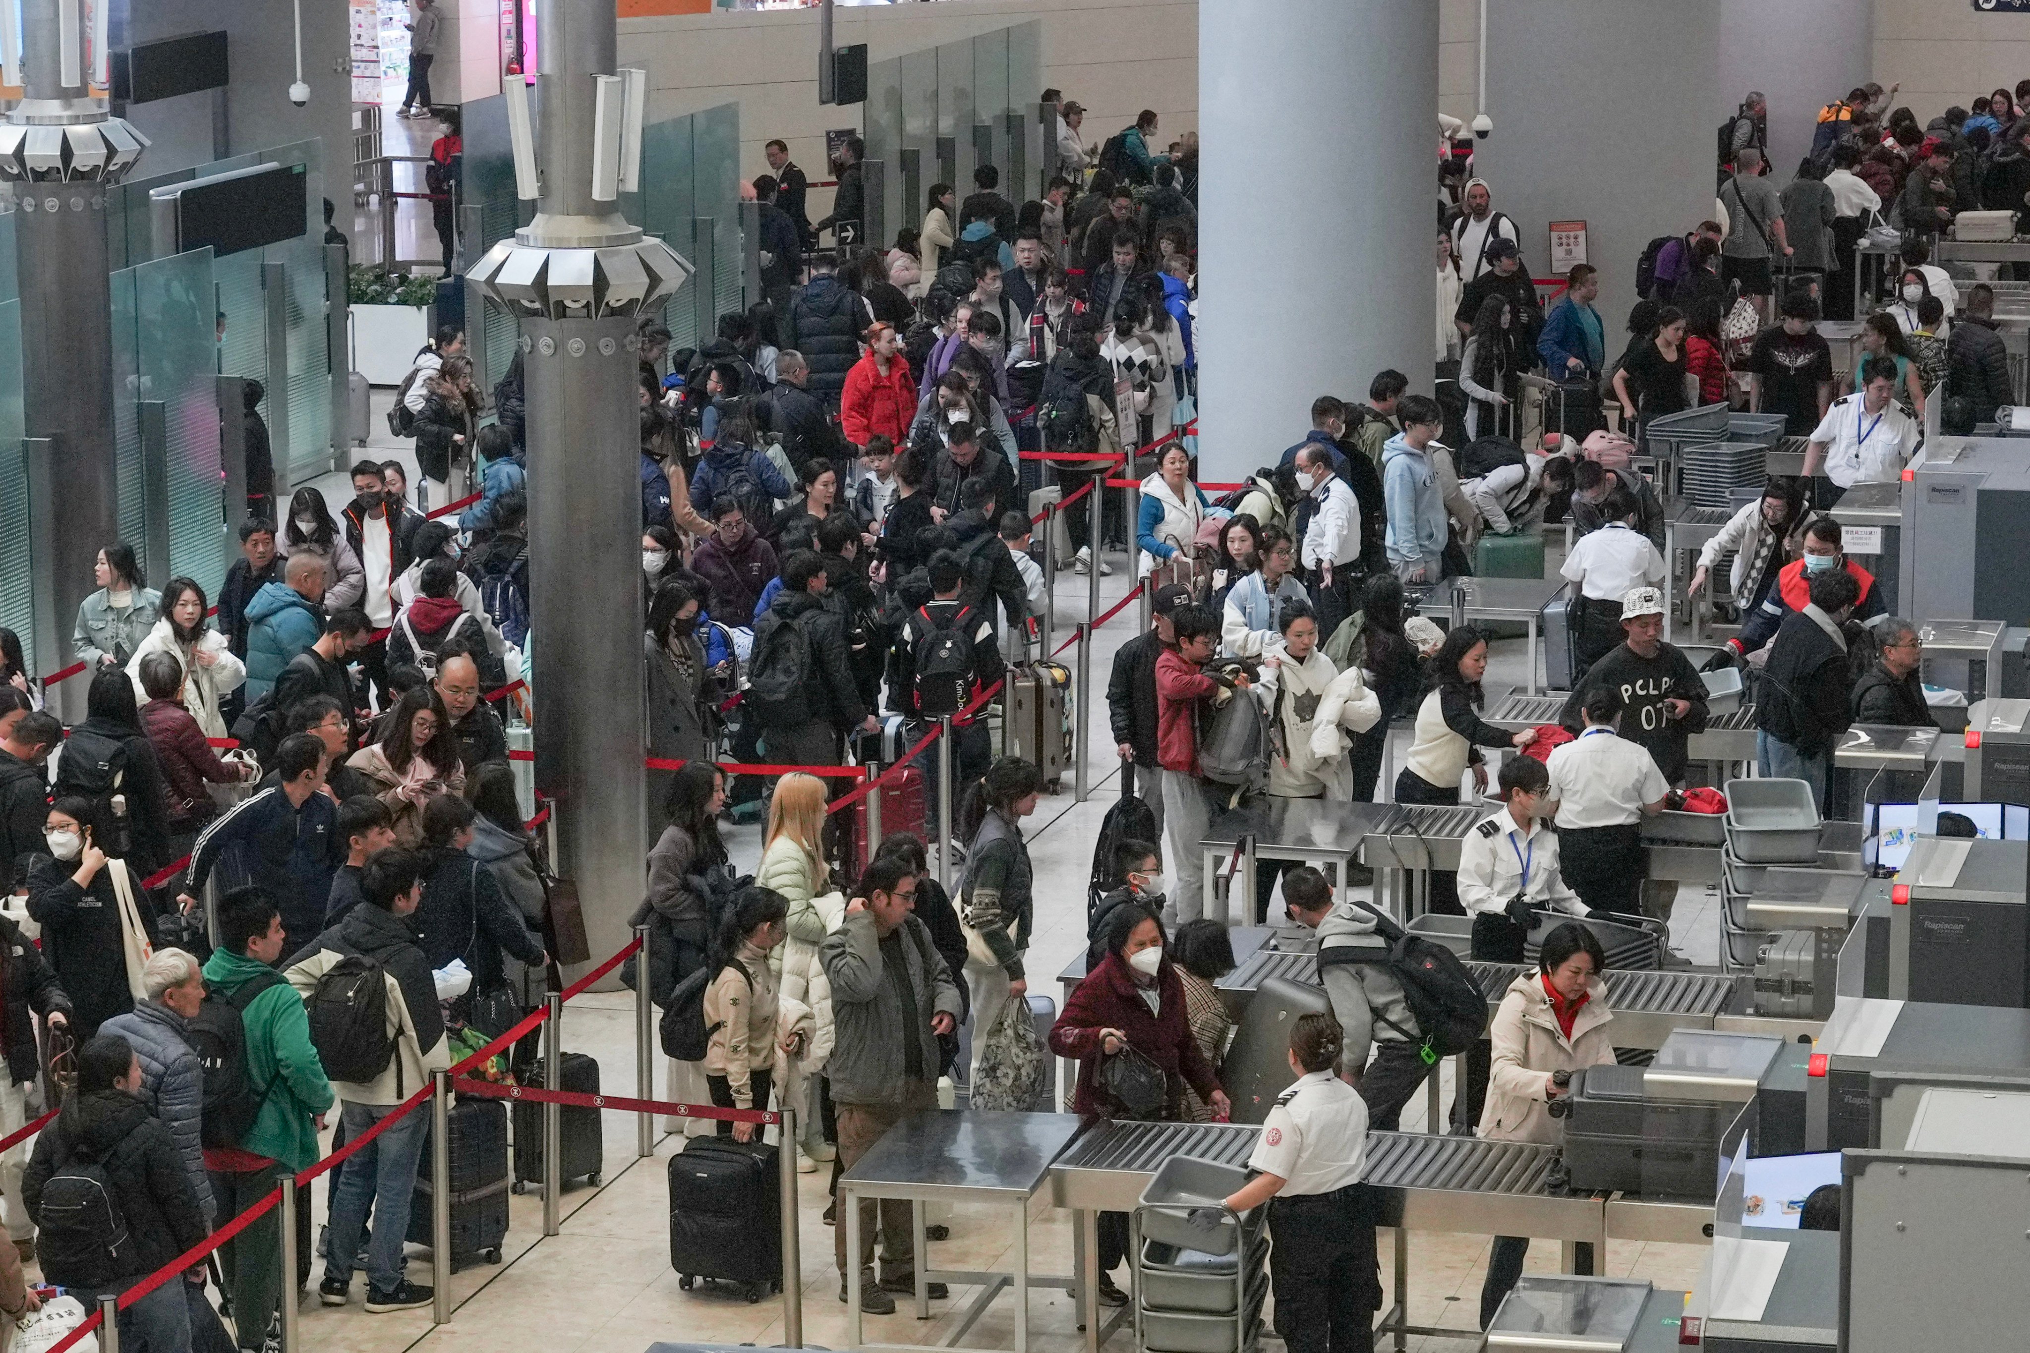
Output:
<instances>
[{"instance_id":1,"label":"woman in black with white mask, hand raised to face, far left","mask_svg":"<svg viewBox=\"0 0 2030 1353\"><path fill-rule=\"evenodd\" d=\"M140 972L120 962L122 921L112 870L120 860L99 846L99 803L59 797L43 822L49 858L28 874L28 919L43 927L43 959L71 998L71 1037L83 1043L99 1024L134 1008ZM154 943L154 913L140 923Z\"/></svg>"}]
</instances>

